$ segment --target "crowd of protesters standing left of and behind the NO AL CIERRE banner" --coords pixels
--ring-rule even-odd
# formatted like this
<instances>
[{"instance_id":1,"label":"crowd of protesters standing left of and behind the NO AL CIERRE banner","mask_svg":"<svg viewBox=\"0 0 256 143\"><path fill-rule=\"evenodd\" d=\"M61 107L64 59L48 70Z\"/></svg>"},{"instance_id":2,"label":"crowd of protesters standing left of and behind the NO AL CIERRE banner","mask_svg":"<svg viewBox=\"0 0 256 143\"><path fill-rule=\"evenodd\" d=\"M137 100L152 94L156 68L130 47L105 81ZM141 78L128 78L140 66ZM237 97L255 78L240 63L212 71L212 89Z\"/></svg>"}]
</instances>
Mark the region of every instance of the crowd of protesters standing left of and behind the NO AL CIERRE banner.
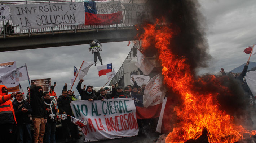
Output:
<instances>
[{"instance_id":1,"label":"crowd of protesters standing left of and behind the NO AL CIERRE banner","mask_svg":"<svg viewBox=\"0 0 256 143\"><path fill-rule=\"evenodd\" d=\"M143 96L146 84L142 87L138 86L134 77L132 81L134 86L128 85L124 89L122 86L115 87L112 85L112 91L108 87L101 88L98 91L93 90L93 86L83 86L81 88L81 79L76 89L78 90L81 100L101 100L111 98L131 98ZM59 114L66 114L67 119L61 120L63 136L66 142L76 142L82 135L79 134L77 125L71 122L70 116L74 116L70 106L71 101L78 100L74 95L74 91L67 90L65 83L61 95L57 97L54 87L50 87L49 92L43 92L41 86L33 84L27 87L27 99L23 99L21 92L8 94L8 89L4 85L0 85L0 124L1 130L0 140L4 142L17 143L55 143L56 117ZM50 97L56 99L57 106ZM10 100L15 98L13 102ZM1 108L3 107L3 108ZM32 125L31 125L32 124ZM138 120L139 129L142 129L142 121ZM31 127L33 132L31 132Z\"/></svg>"}]
</instances>

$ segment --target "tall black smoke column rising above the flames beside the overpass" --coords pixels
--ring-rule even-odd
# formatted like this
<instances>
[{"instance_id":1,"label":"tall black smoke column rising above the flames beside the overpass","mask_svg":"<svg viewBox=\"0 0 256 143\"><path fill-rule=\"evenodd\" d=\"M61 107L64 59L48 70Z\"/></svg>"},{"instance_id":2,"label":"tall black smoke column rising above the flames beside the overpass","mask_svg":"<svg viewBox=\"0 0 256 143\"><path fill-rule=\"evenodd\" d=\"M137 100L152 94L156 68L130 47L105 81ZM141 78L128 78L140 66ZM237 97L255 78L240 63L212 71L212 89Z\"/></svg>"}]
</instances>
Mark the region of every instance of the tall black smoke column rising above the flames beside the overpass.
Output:
<instances>
[{"instance_id":1,"label":"tall black smoke column rising above the flames beside the overpass","mask_svg":"<svg viewBox=\"0 0 256 143\"><path fill-rule=\"evenodd\" d=\"M208 42L204 32L204 18L198 8L197 0L150 0L153 19L164 18L171 23L176 35L170 39L173 53L185 56L191 71L207 67L211 59Z\"/></svg>"}]
</instances>

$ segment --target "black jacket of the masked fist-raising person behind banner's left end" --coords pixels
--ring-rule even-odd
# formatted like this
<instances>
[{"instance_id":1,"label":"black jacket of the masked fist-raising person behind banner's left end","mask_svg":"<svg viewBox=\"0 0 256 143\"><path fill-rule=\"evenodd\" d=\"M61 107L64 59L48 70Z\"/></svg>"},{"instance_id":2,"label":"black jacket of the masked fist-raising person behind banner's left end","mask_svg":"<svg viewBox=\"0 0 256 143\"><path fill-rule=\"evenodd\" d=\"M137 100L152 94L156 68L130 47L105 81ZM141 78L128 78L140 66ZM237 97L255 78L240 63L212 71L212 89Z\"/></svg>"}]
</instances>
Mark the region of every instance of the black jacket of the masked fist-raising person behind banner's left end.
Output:
<instances>
[{"instance_id":1,"label":"black jacket of the masked fist-raising person behind banner's left end","mask_svg":"<svg viewBox=\"0 0 256 143\"><path fill-rule=\"evenodd\" d=\"M93 99L93 100L97 100L97 96L95 95L94 91L92 90L92 93L87 93L87 89L89 87L92 86L87 86L86 90L81 89L81 85L82 83L78 82L78 85L76 86L76 89L78 90L80 96L81 96L81 100L88 100L88 99Z\"/></svg>"}]
</instances>

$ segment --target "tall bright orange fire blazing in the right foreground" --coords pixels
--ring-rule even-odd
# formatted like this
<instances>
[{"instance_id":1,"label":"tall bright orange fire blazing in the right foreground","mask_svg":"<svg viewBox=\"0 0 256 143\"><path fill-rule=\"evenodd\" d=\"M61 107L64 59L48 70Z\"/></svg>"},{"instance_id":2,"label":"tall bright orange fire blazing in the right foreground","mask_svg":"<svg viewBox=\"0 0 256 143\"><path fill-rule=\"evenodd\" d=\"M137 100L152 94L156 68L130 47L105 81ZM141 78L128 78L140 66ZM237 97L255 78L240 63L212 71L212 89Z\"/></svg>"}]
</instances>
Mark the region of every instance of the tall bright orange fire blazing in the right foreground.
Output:
<instances>
[{"instance_id":1,"label":"tall bright orange fire blazing in the right foreground","mask_svg":"<svg viewBox=\"0 0 256 143\"><path fill-rule=\"evenodd\" d=\"M173 54L170 50L172 48L170 39L176 32L169 25L156 22L145 25L143 29L145 32L138 37L142 40L143 51L154 45L162 63L165 85L182 99L182 104L174 108L180 122L175 124L165 142L184 143L190 139L195 140L202 135L203 129L207 130L209 143L233 143L244 139L244 133L255 135L255 131L248 131L241 125L232 123L233 116L220 109L217 101L218 93L202 94L194 90L195 82L204 84L204 81L201 78L194 80L190 66L186 63L186 57ZM210 75L209 78L212 82L219 82L214 75ZM227 87L218 86L221 90L229 92Z\"/></svg>"}]
</instances>

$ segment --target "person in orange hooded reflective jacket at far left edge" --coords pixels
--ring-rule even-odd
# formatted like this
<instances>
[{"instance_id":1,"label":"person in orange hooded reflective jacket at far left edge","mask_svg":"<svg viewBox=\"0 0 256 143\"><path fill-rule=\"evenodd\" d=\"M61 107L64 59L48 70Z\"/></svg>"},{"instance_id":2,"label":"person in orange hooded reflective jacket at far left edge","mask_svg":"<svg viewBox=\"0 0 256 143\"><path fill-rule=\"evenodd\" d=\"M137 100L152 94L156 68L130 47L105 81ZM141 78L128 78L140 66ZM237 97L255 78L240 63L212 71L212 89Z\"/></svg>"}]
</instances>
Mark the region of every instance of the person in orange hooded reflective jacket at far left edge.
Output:
<instances>
[{"instance_id":1,"label":"person in orange hooded reflective jacket at far left edge","mask_svg":"<svg viewBox=\"0 0 256 143\"><path fill-rule=\"evenodd\" d=\"M4 85L0 85L0 142L15 143L16 142L16 117L13 104L10 99L16 96L16 93L8 94L8 89Z\"/></svg>"}]
</instances>

